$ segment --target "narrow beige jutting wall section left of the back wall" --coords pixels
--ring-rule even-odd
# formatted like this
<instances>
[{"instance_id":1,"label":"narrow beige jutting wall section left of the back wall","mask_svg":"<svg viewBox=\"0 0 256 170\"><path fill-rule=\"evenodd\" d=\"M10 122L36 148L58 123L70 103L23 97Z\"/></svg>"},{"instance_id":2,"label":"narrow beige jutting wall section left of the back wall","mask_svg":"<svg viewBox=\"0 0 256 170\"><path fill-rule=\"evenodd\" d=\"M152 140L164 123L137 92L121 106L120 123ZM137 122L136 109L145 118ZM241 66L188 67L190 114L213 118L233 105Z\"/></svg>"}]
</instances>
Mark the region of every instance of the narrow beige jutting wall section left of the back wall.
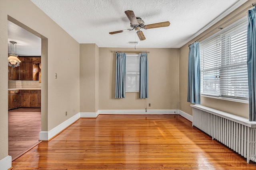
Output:
<instances>
[{"instance_id":1,"label":"narrow beige jutting wall section left of the back wall","mask_svg":"<svg viewBox=\"0 0 256 170\"><path fill-rule=\"evenodd\" d=\"M99 105L99 48L80 44L80 112L97 112Z\"/></svg>"}]
</instances>

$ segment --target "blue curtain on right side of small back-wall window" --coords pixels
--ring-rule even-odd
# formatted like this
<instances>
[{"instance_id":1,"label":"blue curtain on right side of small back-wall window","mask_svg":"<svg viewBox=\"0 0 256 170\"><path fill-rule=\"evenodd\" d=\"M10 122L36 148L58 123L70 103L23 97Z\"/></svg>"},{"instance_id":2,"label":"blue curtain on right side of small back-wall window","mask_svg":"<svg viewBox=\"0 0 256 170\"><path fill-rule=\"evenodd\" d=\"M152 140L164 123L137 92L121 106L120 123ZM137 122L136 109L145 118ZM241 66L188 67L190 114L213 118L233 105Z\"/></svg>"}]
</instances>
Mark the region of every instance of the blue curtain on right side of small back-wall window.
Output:
<instances>
[{"instance_id":1,"label":"blue curtain on right side of small back-wall window","mask_svg":"<svg viewBox=\"0 0 256 170\"><path fill-rule=\"evenodd\" d=\"M140 54L140 98L148 98L148 58L147 53Z\"/></svg>"}]
</instances>

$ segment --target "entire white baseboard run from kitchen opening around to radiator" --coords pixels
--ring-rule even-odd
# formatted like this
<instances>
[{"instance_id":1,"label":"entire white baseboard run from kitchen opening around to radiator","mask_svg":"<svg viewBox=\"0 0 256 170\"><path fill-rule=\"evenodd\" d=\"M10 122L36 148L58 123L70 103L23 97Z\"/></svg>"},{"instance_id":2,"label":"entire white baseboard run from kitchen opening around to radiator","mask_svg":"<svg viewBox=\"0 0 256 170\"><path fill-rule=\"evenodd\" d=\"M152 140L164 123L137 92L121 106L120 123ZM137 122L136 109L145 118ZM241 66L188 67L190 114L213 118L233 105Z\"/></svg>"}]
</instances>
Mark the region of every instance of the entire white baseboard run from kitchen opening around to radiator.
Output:
<instances>
[{"instance_id":1,"label":"entire white baseboard run from kitchen opening around to radiator","mask_svg":"<svg viewBox=\"0 0 256 170\"><path fill-rule=\"evenodd\" d=\"M182 117L192 121L192 116L180 111L180 110L98 110L96 113L94 112L80 112L70 117L68 120L64 121L60 125L54 127L50 131L41 131L39 134L39 140L48 141L66 127L74 123L80 117L87 117L87 118L96 118L99 114L118 114L118 115L175 115L180 114Z\"/></svg>"}]
</instances>

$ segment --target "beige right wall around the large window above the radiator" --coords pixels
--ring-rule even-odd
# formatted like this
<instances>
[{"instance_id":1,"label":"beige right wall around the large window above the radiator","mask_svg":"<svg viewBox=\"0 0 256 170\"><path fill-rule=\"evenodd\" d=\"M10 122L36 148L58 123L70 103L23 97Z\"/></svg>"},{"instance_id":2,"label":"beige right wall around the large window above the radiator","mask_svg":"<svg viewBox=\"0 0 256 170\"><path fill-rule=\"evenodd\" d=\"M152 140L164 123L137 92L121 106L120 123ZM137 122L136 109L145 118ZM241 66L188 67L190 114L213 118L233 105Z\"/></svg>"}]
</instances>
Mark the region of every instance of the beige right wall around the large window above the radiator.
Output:
<instances>
[{"instance_id":1,"label":"beige right wall around the large window above the radiator","mask_svg":"<svg viewBox=\"0 0 256 170\"><path fill-rule=\"evenodd\" d=\"M180 110L192 115L192 108L190 107L190 103L187 101L187 82L188 82L188 51L189 47L188 44L192 43L196 39L202 37L202 35L205 35L212 29L218 27L220 24L224 23L225 21L229 20L236 14L240 13L242 10L246 9L248 6L250 6L252 3L254 3L255 0L248 0L245 4L240 6L238 9L236 9L234 12L226 16L224 19L220 20L218 23L210 27L208 30L206 30L201 35L198 35L195 39L192 41L189 41L186 43L183 47L180 48ZM241 19L242 17L246 16L246 11L242 12L239 16L232 19L225 25L222 25L222 27L226 27L227 25L230 25L231 23ZM199 39L199 41L202 41L203 39L209 37L216 31L213 31L209 35L203 37L202 39ZM215 98L206 98L201 97L201 105L212 107L214 109L218 109L221 111L226 111L228 113L232 113L234 115L239 115L245 118L248 118L248 104L240 103L240 102L232 102L227 100L220 100Z\"/></svg>"}]
</instances>

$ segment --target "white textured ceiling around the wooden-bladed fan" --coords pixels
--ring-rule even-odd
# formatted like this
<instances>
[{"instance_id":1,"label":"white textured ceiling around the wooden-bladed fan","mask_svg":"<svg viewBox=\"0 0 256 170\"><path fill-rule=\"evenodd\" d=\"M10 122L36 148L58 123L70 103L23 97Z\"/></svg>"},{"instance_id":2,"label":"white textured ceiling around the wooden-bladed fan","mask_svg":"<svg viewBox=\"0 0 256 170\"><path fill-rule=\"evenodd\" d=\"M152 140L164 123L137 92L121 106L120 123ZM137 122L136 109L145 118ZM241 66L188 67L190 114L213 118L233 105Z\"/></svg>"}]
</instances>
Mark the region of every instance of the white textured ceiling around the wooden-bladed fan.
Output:
<instances>
[{"instance_id":1,"label":"white textured ceiling around the wooden-bladed fan","mask_svg":"<svg viewBox=\"0 0 256 170\"><path fill-rule=\"evenodd\" d=\"M247 0L31 0L78 43L98 47L180 48ZM130 28L124 11L133 10L145 25L170 21L169 27L141 29L110 35Z\"/></svg>"}]
</instances>

